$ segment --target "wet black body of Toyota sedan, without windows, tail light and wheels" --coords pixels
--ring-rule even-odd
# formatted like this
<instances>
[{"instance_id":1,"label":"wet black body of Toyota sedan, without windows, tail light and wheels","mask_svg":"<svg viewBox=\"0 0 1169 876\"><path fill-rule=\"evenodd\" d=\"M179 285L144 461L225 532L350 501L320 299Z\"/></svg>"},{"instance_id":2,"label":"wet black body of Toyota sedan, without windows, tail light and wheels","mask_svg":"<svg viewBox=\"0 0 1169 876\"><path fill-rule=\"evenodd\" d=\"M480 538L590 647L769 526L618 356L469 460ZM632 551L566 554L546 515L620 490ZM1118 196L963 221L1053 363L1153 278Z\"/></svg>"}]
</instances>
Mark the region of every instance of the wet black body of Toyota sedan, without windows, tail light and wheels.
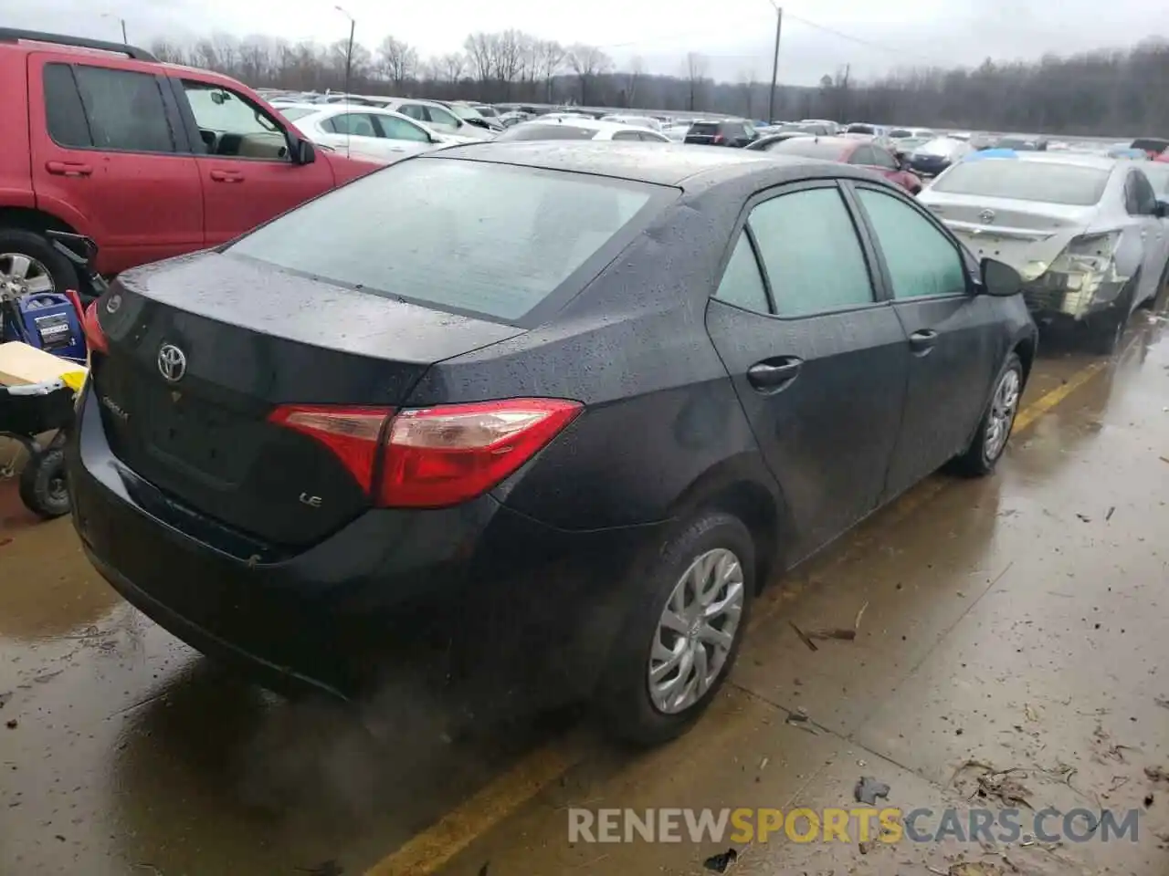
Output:
<instances>
[{"instance_id":1,"label":"wet black body of Toyota sedan, without windows, tail light and wheels","mask_svg":"<svg viewBox=\"0 0 1169 876\"><path fill-rule=\"evenodd\" d=\"M969 253L862 171L682 146L491 144L407 159L340 197L392 201L382 189L403 176L383 174L440 161L603 179L645 207L506 318L231 246L127 272L96 305L103 340L67 451L84 549L129 602L270 687L367 691L387 655L426 640L443 653L457 642L437 686L465 670L475 691L502 681L526 707L587 694L630 576L687 514L719 502L750 521L766 580L963 452L1004 361L1033 354L1019 297L978 294ZM961 291L893 301L865 231L860 308L784 320L713 300L747 245L747 210L809 187L857 222L855 196L913 210L953 246ZM241 241L281 245L281 223L267 228ZM761 390L753 363L776 355L800 357L784 366L798 380ZM436 507L376 499L396 463L379 451L362 485L353 460L281 416L376 410L381 447L403 418L517 398L570 399L559 402L570 416L503 480ZM484 701L512 702L490 689Z\"/></svg>"}]
</instances>

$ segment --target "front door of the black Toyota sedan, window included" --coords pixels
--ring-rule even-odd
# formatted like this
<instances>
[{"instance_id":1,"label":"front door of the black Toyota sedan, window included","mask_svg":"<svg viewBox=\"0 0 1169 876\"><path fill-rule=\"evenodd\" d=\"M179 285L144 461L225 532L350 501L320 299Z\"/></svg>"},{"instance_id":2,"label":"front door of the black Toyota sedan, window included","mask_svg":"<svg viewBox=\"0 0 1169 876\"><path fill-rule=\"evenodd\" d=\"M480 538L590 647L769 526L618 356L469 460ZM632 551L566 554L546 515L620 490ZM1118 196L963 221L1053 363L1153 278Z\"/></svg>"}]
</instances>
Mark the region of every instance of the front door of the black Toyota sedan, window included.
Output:
<instances>
[{"instance_id":1,"label":"front door of the black Toyota sedan, window included","mask_svg":"<svg viewBox=\"0 0 1169 876\"><path fill-rule=\"evenodd\" d=\"M940 223L888 189L849 187L872 228L893 310L908 335L908 391L888 477L888 494L895 495L964 450L1008 339L991 299L971 294L971 265Z\"/></svg>"}]
</instances>

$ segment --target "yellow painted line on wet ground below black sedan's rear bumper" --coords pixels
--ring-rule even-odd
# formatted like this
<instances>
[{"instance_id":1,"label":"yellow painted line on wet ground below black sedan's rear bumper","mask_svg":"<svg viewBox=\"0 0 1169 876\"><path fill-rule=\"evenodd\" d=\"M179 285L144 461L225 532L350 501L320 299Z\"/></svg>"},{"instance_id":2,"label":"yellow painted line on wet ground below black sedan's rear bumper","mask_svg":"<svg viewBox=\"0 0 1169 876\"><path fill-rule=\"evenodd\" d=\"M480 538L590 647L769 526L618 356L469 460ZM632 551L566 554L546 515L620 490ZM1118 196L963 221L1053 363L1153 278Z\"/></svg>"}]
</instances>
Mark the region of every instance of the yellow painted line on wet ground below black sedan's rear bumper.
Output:
<instances>
[{"instance_id":1,"label":"yellow painted line on wet ground below black sedan's rear bumper","mask_svg":"<svg viewBox=\"0 0 1169 876\"><path fill-rule=\"evenodd\" d=\"M429 876L580 763L583 751L563 742L525 755L507 772L415 834L365 876Z\"/></svg>"}]
</instances>

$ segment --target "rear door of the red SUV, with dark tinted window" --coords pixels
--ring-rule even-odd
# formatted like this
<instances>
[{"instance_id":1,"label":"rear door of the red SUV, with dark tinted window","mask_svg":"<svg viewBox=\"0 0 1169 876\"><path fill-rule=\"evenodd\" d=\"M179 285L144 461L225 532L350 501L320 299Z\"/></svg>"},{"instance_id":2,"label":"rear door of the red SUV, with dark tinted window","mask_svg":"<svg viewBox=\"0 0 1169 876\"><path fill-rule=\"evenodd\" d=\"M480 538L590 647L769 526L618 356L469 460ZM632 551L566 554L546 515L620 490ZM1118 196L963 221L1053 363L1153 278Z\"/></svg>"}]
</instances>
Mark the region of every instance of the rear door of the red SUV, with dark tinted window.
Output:
<instances>
[{"instance_id":1,"label":"rear door of the red SUV, with dark tinted window","mask_svg":"<svg viewBox=\"0 0 1169 876\"><path fill-rule=\"evenodd\" d=\"M203 245L199 172L157 64L28 56L37 206L90 235L97 269L127 267Z\"/></svg>"}]
</instances>

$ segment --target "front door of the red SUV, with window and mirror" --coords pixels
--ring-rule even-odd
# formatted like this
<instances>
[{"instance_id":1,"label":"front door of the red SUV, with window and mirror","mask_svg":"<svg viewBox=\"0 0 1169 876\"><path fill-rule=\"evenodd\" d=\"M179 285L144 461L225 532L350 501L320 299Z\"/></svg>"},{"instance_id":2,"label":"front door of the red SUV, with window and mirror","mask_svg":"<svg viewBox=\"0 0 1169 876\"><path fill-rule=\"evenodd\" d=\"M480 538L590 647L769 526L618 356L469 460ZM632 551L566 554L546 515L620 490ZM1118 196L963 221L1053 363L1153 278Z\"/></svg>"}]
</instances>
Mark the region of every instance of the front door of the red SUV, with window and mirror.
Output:
<instances>
[{"instance_id":1,"label":"front door of the red SUV, with window and mirror","mask_svg":"<svg viewBox=\"0 0 1169 876\"><path fill-rule=\"evenodd\" d=\"M199 78L172 78L196 144L206 245L216 246L327 192L327 160L296 165L286 123L241 91Z\"/></svg>"}]
</instances>

